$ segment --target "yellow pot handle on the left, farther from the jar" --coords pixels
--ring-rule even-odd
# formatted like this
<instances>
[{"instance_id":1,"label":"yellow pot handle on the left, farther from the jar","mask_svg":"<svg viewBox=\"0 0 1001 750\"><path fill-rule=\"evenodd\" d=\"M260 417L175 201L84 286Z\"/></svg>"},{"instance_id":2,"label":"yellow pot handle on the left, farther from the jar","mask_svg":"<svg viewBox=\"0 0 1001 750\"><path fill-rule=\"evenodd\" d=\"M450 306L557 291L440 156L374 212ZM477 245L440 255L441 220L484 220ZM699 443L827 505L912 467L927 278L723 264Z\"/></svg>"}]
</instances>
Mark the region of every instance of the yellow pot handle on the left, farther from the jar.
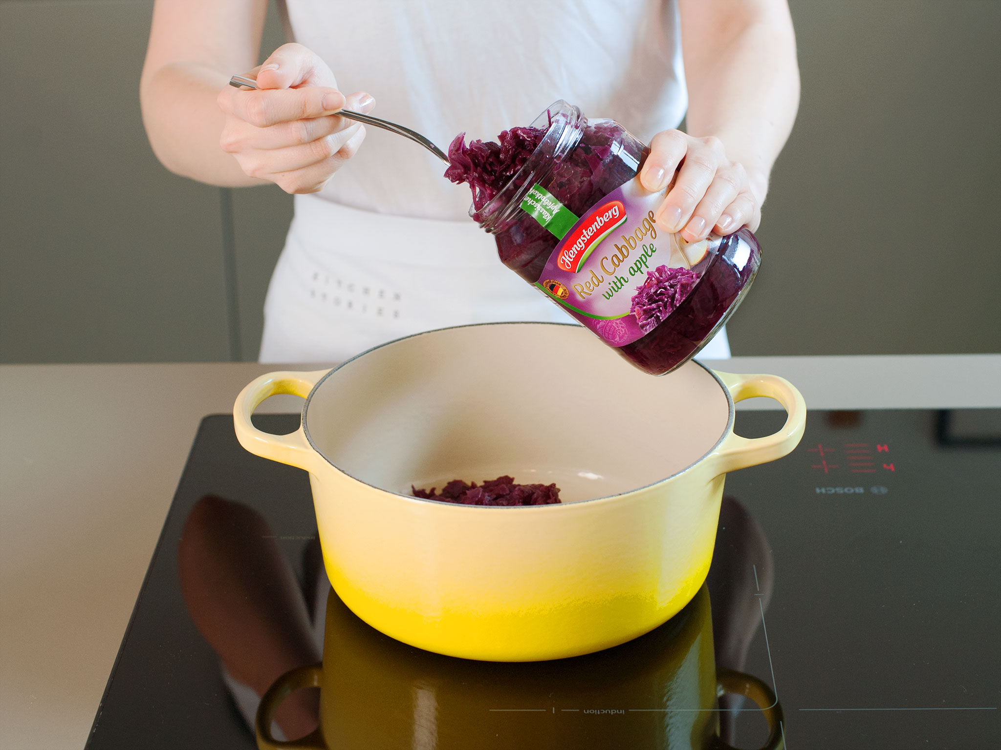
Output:
<instances>
[{"instance_id":1,"label":"yellow pot handle on the left, farther from the jar","mask_svg":"<svg viewBox=\"0 0 1001 750\"><path fill-rule=\"evenodd\" d=\"M250 415L260 402L277 393L290 393L305 398L329 370L313 372L269 372L251 381L240 391L233 404L233 428L240 445L255 456L291 464L308 471L316 452L306 440L302 425L289 435L261 432L250 421Z\"/></svg>"}]
</instances>

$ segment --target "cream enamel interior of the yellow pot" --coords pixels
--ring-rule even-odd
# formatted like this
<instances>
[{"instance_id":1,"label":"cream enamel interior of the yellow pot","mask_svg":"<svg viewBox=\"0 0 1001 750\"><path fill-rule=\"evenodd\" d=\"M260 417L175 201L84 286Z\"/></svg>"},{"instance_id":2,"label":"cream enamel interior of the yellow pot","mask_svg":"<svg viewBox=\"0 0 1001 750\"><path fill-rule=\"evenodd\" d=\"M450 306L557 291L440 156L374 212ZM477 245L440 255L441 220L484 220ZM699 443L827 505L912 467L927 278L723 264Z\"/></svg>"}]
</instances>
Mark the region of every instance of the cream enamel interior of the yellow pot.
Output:
<instances>
[{"instance_id":1,"label":"cream enamel interior of the yellow pot","mask_svg":"<svg viewBox=\"0 0 1001 750\"><path fill-rule=\"evenodd\" d=\"M304 411L312 446L373 487L409 494L510 474L556 482L573 502L695 464L726 432L730 406L697 364L653 378L583 327L508 324L369 351L321 381Z\"/></svg>"}]
</instances>

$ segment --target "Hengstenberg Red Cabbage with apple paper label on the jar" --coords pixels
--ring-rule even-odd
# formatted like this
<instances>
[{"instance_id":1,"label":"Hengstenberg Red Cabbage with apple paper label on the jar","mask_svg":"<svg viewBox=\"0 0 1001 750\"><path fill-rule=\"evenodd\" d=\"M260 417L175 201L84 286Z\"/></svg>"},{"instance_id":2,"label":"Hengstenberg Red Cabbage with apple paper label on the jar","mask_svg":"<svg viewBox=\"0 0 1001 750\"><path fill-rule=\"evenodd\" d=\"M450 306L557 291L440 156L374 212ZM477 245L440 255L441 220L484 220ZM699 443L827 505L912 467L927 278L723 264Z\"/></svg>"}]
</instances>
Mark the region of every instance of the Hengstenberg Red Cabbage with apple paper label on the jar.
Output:
<instances>
[{"instance_id":1,"label":"Hengstenberg Red Cabbage with apple paper label on the jar","mask_svg":"<svg viewBox=\"0 0 1001 750\"><path fill-rule=\"evenodd\" d=\"M674 312L718 246L659 230L654 211L664 195L637 176L569 226L574 214L542 186L526 196L539 215L526 211L561 237L536 285L612 346L643 338Z\"/></svg>"}]
</instances>

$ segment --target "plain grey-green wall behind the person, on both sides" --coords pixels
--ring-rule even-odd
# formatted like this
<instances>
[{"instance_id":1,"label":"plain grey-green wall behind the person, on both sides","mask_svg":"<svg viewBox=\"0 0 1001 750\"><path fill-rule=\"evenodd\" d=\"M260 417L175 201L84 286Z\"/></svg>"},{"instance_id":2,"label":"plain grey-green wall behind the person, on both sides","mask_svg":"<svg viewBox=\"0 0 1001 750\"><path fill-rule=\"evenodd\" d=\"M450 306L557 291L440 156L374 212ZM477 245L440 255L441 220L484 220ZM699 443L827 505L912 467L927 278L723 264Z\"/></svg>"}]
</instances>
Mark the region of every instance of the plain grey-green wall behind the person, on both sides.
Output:
<instances>
[{"instance_id":1,"label":"plain grey-green wall behind the person, on both sides","mask_svg":"<svg viewBox=\"0 0 1001 750\"><path fill-rule=\"evenodd\" d=\"M0 362L256 357L291 199L156 162L151 8L0 0ZM803 100L734 353L1001 351L1001 2L792 10Z\"/></svg>"}]
</instances>

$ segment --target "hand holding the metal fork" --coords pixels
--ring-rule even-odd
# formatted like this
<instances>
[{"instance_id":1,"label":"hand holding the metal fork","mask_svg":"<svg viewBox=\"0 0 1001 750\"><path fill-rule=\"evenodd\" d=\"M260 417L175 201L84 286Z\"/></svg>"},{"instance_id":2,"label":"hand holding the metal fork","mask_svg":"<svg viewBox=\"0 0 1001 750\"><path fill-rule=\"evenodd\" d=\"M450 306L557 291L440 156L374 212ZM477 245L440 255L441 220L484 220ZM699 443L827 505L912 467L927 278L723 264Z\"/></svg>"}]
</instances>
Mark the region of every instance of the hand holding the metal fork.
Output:
<instances>
[{"instance_id":1,"label":"hand holding the metal fork","mask_svg":"<svg viewBox=\"0 0 1001 750\"><path fill-rule=\"evenodd\" d=\"M258 90L219 92L223 150L247 175L286 193L322 190L365 137L363 125L335 113L368 112L375 100L364 92L345 97L326 63L300 44L278 47L246 75L256 77Z\"/></svg>"}]
</instances>

